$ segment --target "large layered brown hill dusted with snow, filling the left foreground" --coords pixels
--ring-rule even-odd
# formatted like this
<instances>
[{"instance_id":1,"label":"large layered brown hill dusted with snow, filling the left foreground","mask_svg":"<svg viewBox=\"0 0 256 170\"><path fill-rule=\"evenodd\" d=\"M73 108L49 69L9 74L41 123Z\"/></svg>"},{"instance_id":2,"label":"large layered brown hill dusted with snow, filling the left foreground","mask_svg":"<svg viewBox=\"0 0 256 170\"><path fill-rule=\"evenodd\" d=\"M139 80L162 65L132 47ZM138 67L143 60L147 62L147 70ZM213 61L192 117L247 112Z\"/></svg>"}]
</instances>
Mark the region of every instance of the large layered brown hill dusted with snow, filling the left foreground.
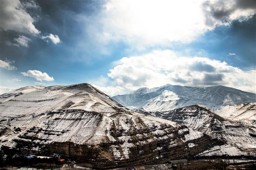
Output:
<instances>
[{"instance_id":1,"label":"large layered brown hill dusted with snow, filling the left foreground","mask_svg":"<svg viewBox=\"0 0 256 170\"><path fill-rule=\"evenodd\" d=\"M185 125L130 111L86 83L26 87L1 98L5 154L57 154L110 168L193 158L225 144ZM254 156L240 151L238 156Z\"/></svg>"}]
</instances>

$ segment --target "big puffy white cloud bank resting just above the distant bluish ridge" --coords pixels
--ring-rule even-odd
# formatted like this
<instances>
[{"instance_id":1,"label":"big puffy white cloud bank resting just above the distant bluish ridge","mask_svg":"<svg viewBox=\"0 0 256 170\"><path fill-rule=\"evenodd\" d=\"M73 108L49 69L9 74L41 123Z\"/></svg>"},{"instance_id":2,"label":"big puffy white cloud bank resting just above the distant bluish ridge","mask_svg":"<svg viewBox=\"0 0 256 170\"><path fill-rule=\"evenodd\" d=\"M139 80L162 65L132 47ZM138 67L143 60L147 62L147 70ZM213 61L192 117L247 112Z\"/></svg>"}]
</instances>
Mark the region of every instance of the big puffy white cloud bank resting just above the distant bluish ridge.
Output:
<instances>
[{"instance_id":1,"label":"big puffy white cloud bank resting just above the distant bluish ridge","mask_svg":"<svg viewBox=\"0 0 256 170\"><path fill-rule=\"evenodd\" d=\"M256 70L243 71L226 62L206 57L177 57L174 51L152 51L134 57L123 57L108 76L120 87L173 85L225 85L256 93Z\"/></svg>"}]
</instances>

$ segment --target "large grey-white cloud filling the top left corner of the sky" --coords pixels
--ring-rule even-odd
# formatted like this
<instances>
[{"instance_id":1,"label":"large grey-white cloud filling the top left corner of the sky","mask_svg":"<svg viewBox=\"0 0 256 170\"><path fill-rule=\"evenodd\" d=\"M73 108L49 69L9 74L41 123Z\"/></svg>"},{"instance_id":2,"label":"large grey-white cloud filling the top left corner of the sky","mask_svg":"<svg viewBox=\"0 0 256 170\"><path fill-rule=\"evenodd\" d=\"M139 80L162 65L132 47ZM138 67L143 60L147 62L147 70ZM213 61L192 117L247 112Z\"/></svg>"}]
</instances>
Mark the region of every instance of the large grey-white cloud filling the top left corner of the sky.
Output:
<instances>
[{"instance_id":1,"label":"large grey-white cloud filling the top left corner of the sky","mask_svg":"<svg viewBox=\"0 0 256 170\"><path fill-rule=\"evenodd\" d=\"M32 3L21 3L19 0L1 0L0 28L5 31L39 34L40 31L33 24L35 19L30 16L26 8L31 8ZM34 4L35 5L35 4Z\"/></svg>"}]
</instances>

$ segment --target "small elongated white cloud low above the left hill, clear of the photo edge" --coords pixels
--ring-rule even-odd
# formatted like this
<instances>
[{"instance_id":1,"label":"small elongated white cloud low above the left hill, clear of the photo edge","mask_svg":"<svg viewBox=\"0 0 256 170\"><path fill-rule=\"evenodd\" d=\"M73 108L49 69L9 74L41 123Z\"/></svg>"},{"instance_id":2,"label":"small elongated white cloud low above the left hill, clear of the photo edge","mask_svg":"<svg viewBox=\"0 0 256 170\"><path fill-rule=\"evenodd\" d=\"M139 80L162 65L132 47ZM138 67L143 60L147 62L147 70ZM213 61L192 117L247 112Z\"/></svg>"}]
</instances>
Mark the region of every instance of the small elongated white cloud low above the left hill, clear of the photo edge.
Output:
<instances>
[{"instance_id":1,"label":"small elongated white cloud low above the left hill, clear of the photo edge","mask_svg":"<svg viewBox=\"0 0 256 170\"><path fill-rule=\"evenodd\" d=\"M53 77L49 77L47 73L42 73L38 70L28 70L27 72L21 72L25 77L33 77L38 81L54 81Z\"/></svg>"}]
</instances>

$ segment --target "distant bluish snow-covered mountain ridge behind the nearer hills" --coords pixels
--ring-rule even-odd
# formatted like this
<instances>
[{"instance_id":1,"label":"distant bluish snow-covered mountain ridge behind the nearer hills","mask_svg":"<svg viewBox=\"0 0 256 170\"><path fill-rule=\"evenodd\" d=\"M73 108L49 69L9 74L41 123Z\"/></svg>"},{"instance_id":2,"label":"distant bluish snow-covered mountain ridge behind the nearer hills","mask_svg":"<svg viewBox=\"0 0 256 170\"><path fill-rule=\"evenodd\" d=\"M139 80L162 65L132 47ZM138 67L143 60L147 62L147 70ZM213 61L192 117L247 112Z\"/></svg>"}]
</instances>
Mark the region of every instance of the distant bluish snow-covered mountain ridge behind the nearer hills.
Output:
<instances>
[{"instance_id":1,"label":"distant bluish snow-covered mountain ridge behind the nearer hills","mask_svg":"<svg viewBox=\"0 0 256 170\"><path fill-rule=\"evenodd\" d=\"M170 111L190 105L218 109L225 105L256 102L256 94L222 85L189 87L167 84L159 88L140 88L112 98L128 108L144 108L148 111Z\"/></svg>"}]
</instances>

